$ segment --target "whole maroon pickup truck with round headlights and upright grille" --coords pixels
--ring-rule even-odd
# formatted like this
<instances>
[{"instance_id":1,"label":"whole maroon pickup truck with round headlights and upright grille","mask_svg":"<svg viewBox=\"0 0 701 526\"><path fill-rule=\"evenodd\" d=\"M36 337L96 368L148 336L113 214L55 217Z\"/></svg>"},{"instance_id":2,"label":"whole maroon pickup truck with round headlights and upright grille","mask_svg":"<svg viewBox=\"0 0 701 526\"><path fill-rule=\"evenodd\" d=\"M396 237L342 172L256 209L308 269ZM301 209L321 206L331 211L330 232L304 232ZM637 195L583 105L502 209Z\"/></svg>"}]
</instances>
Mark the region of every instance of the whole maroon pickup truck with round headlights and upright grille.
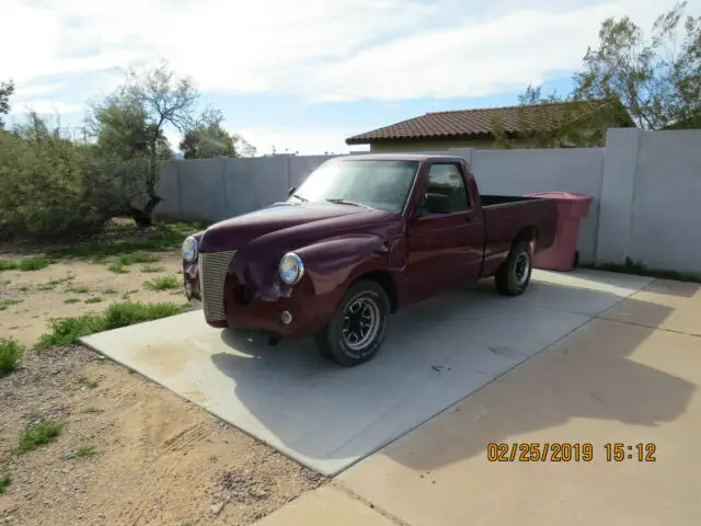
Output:
<instances>
[{"instance_id":1,"label":"whole maroon pickup truck with round headlights and upright grille","mask_svg":"<svg viewBox=\"0 0 701 526\"><path fill-rule=\"evenodd\" d=\"M289 198L183 243L185 294L216 328L313 335L343 366L372 358L389 315L495 277L517 296L535 250L552 245L554 202L480 195L464 159L331 159Z\"/></svg>"}]
</instances>

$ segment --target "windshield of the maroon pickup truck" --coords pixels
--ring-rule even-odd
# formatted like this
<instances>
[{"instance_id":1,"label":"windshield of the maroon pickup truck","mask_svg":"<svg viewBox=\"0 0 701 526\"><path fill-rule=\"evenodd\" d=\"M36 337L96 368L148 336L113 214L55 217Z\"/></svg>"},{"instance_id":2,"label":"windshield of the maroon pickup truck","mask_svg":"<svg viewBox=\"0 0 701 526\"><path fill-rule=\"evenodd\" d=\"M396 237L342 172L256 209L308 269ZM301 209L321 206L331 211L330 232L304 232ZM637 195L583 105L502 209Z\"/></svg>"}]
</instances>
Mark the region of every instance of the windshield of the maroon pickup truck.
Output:
<instances>
[{"instance_id":1,"label":"windshield of the maroon pickup truck","mask_svg":"<svg viewBox=\"0 0 701 526\"><path fill-rule=\"evenodd\" d=\"M332 159L314 170L290 201L349 202L401 211L417 170L418 161Z\"/></svg>"}]
</instances>

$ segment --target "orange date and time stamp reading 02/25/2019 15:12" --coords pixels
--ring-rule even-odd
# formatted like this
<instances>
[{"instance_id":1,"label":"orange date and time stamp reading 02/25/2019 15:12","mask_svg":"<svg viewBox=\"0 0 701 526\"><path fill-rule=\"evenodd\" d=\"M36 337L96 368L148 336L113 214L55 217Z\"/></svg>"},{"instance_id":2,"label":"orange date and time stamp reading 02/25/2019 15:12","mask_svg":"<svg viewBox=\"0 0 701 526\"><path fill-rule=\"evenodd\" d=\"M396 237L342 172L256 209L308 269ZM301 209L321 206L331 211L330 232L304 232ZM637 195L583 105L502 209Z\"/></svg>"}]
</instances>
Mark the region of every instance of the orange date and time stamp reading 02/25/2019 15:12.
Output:
<instances>
[{"instance_id":1,"label":"orange date and time stamp reading 02/25/2019 15:12","mask_svg":"<svg viewBox=\"0 0 701 526\"><path fill-rule=\"evenodd\" d=\"M607 462L625 460L655 462L657 446L653 443L606 443L602 447ZM595 447L589 442L515 442L490 443L487 460L491 462L590 462L595 458Z\"/></svg>"}]
</instances>

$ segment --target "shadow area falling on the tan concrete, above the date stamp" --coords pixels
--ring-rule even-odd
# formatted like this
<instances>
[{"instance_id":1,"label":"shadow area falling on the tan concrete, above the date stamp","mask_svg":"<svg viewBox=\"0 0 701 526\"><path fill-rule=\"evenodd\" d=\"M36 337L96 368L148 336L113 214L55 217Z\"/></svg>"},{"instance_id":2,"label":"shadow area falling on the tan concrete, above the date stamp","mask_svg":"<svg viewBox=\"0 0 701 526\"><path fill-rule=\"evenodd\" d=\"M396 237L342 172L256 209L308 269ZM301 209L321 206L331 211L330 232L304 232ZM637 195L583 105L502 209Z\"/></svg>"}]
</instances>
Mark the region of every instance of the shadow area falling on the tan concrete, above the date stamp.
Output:
<instances>
[{"instance_id":1,"label":"shadow area falling on the tan concrete, above the date stamp","mask_svg":"<svg viewBox=\"0 0 701 526\"><path fill-rule=\"evenodd\" d=\"M627 301L647 316L654 312L657 324L671 311L660 305ZM448 425L433 420L397 441L383 454L422 471L485 456L490 443L513 443L518 441L514 437L551 430L572 419L643 427L674 422L686 411L696 386L629 358L654 331L595 319L543 353L539 357L542 361L533 359L474 393L470 398L474 405L468 407L468 402L449 409L443 415L450 420ZM665 353L666 348L658 351ZM581 435L577 442L591 442L586 426L578 428L582 431L577 433ZM572 431L564 438L552 432L537 435L539 443L573 442ZM618 439L611 436L608 441ZM594 447L598 456L602 444Z\"/></svg>"}]
</instances>

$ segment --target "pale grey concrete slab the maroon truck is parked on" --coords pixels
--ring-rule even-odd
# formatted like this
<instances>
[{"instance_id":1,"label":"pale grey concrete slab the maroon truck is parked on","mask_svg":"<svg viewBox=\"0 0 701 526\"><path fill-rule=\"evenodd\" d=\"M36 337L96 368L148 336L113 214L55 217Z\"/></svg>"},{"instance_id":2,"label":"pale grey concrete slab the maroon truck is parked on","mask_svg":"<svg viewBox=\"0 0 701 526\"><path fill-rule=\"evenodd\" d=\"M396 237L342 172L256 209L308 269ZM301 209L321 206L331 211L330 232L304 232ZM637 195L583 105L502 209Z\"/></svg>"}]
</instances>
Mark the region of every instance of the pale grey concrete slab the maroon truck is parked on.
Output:
<instances>
[{"instance_id":1,"label":"pale grey concrete slab the maroon truck is parked on","mask_svg":"<svg viewBox=\"0 0 701 526\"><path fill-rule=\"evenodd\" d=\"M334 476L586 323L582 311L634 291L602 274L573 274L579 286L563 287L538 273L517 300L478 287L422 302L393 317L381 354L353 369L319 358L309 341L269 347L211 329L199 311L83 342Z\"/></svg>"}]
</instances>

